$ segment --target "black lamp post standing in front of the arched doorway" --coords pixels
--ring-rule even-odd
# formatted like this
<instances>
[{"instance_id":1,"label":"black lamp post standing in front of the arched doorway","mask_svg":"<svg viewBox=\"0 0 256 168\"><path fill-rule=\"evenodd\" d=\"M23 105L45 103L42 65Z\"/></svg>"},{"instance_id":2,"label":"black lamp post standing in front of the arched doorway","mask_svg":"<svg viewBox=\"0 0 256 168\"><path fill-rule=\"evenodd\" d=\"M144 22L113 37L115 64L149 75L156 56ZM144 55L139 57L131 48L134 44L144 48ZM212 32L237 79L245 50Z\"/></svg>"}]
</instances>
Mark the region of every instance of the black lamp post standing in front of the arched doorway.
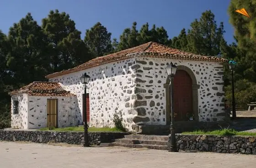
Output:
<instances>
[{"instance_id":1,"label":"black lamp post standing in front of the arched doorway","mask_svg":"<svg viewBox=\"0 0 256 168\"><path fill-rule=\"evenodd\" d=\"M177 70L177 67L172 64L169 64L166 66L166 72L167 75L169 76L170 79L170 85L169 85L169 89L171 91L170 94L170 99L171 99L171 147L169 149L169 152L177 152L177 147L176 147L176 137L175 137L175 132L174 132L174 108L173 108L173 79Z\"/></svg>"}]
</instances>

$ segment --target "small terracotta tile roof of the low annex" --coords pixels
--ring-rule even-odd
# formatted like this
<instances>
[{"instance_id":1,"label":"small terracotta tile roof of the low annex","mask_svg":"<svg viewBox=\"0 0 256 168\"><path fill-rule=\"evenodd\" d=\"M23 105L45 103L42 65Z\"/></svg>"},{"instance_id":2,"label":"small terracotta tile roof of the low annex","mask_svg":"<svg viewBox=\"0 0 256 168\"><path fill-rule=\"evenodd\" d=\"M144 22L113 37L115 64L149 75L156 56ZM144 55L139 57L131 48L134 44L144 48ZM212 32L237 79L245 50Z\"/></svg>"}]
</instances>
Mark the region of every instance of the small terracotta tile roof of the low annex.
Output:
<instances>
[{"instance_id":1,"label":"small terracotta tile roof of the low annex","mask_svg":"<svg viewBox=\"0 0 256 168\"><path fill-rule=\"evenodd\" d=\"M26 93L29 96L75 96L75 94L64 90L58 82L34 81L19 90L10 92L10 95Z\"/></svg>"}]
</instances>

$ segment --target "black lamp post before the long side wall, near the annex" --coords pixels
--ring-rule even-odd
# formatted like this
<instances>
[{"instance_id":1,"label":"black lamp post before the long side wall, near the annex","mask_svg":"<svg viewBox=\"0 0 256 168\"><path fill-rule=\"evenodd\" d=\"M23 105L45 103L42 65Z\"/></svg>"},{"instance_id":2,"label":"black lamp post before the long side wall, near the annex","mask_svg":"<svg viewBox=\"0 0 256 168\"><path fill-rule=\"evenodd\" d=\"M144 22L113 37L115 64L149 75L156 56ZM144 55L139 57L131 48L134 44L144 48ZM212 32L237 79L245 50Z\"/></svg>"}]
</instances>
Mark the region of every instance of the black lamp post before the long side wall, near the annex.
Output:
<instances>
[{"instance_id":1,"label":"black lamp post before the long side wall, near the annex","mask_svg":"<svg viewBox=\"0 0 256 168\"><path fill-rule=\"evenodd\" d=\"M83 120L84 120L84 147L89 147L89 139L88 139L88 125L87 125L87 116L86 116L86 84L88 84L90 80L90 76L86 74L86 72L80 77L82 84L85 84L85 94L83 97Z\"/></svg>"}]
</instances>

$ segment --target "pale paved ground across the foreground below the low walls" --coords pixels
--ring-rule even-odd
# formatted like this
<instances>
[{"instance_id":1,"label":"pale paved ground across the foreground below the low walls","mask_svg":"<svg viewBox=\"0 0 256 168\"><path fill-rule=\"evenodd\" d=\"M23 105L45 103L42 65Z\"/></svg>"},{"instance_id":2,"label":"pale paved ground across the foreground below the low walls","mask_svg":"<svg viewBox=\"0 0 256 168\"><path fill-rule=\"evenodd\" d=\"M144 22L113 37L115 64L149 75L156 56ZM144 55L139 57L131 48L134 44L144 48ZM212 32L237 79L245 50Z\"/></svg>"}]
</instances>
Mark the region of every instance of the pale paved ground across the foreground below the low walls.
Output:
<instances>
[{"instance_id":1,"label":"pale paved ground across the foreground below the low walls","mask_svg":"<svg viewBox=\"0 0 256 168\"><path fill-rule=\"evenodd\" d=\"M0 168L255 168L256 155L0 142Z\"/></svg>"}]
</instances>

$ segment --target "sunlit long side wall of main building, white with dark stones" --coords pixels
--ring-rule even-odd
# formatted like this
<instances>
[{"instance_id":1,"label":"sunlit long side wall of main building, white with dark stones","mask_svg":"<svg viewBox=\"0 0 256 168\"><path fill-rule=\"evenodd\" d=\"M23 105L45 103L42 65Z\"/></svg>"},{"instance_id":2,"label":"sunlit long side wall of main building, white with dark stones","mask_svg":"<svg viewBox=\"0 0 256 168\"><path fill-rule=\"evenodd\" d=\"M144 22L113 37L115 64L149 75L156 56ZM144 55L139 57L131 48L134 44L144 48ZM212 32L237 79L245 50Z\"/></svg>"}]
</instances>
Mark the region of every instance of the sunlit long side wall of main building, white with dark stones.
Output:
<instances>
[{"instance_id":1,"label":"sunlit long side wall of main building, white with dark stones","mask_svg":"<svg viewBox=\"0 0 256 168\"><path fill-rule=\"evenodd\" d=\"M131 58L53 77L49 81L60 82L65 90L77 95L77 117L82 123L84 85L79 77L86 72L91 76L86 88L90 98L90 127L114 127L112 117L114 112L118 112L123 117L125 127L131 131L135 116L130 112L135 99L135 68L135 61Z\"/></svg>"}]
</instances>

